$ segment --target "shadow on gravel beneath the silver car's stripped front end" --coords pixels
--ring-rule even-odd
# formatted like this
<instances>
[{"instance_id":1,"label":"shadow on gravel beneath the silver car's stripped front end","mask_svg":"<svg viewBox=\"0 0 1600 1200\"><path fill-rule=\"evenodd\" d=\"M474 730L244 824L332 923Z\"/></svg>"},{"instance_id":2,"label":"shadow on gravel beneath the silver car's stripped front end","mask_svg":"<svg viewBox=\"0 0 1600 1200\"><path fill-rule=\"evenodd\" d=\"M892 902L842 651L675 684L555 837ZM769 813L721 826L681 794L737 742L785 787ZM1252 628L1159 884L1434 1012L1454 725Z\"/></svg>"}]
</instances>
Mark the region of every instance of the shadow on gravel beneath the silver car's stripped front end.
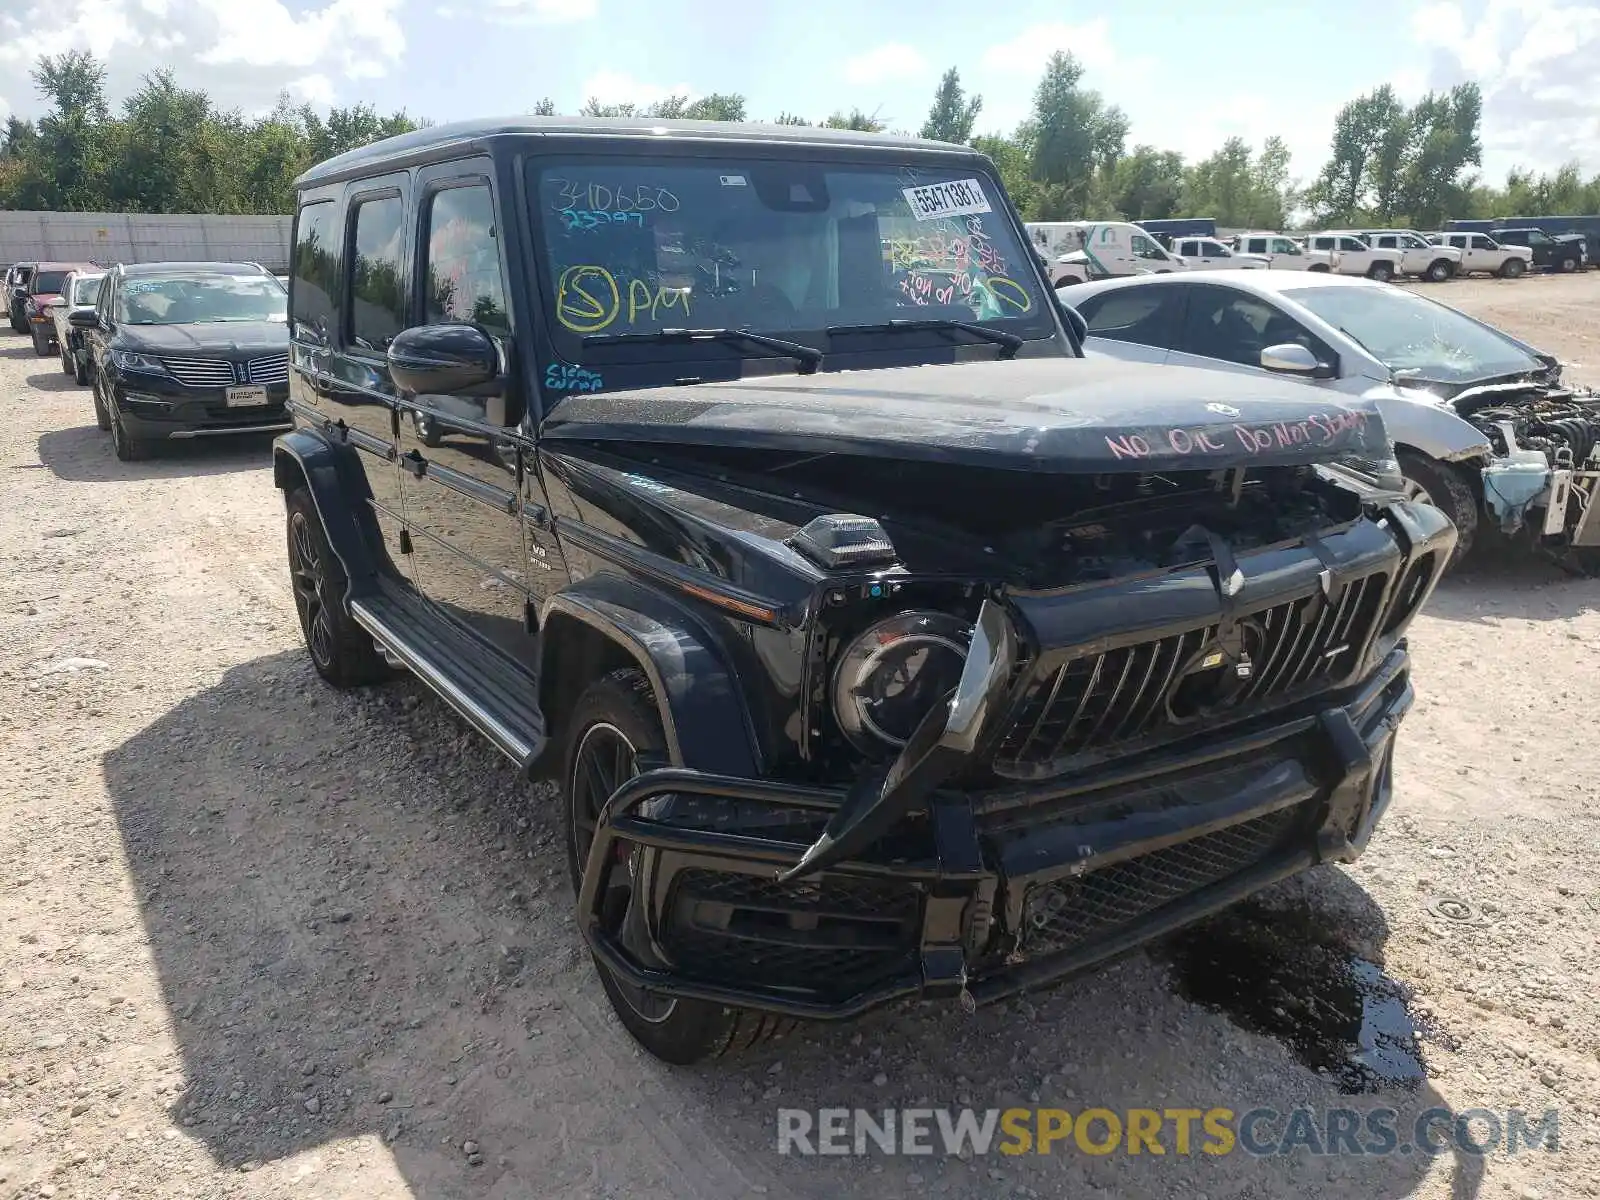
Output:
<instances>
[{"instance_id":1,"label":"shadow on gravel beneath the silver car's stripped front end","mask_svg":"<svg viewBox=\"0 0 1600 1200\"><path fill-rule=\"evenodd\" d=\"M1600 579L1576 576L1522 547L1491 546L1445 576L1422 611L1480 624L1506 618L1566 621L1600 611Z\"/></svg>"}]
</instances>

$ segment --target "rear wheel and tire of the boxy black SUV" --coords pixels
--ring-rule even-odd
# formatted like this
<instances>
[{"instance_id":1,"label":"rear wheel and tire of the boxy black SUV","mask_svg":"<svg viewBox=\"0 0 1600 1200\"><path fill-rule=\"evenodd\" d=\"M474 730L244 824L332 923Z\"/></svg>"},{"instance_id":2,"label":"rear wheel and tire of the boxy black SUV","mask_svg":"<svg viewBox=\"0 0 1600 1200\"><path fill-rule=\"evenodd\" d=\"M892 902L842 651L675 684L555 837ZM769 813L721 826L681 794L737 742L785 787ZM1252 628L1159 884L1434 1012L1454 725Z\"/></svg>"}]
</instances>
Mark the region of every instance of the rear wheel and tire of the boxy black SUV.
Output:
<instances>
[{"instance_id":1,"label":"rear wheel and tire of the boxy black SUV","mask_svg":"<svg viewBox=\"0 0 1600 1200\"><path fill-rule=\"evenodd\" d=\"M349 578L328 546L322 514L306 488L285 496L290 587L306 650L317 674L336 688L381 683L392 675L371 634L344 608Z\"/></svg>"}]
</instances>

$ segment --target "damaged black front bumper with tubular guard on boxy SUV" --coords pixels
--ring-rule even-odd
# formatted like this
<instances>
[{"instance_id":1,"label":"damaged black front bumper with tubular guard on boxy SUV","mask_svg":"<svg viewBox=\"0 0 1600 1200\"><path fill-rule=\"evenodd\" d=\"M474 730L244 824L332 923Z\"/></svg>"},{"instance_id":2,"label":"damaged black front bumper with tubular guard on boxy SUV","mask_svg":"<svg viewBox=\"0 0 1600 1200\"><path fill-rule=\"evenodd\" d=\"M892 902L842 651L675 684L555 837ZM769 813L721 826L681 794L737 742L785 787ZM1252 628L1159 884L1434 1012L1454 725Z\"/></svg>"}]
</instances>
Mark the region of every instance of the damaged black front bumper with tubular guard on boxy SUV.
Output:
<instances>
[{"instance_id":1,"label":"damaged black front bumper with tubular guard on boxy SUV","mask_svg":"<svg viewBox=\"0 0 1600 1200\"><path fill-rule=\"evenodd\" d=\"M600 816L579 923L605 968L669 997L808 1019L1000 1000L1360 854L1392 795L1408 667L1400 645L1344 693L1050 787L938 792L870 856L794 883L778 875L843 792L651 770ZM608 925L614 870L650 898L648 954Z\"/></svg>"}]
</instances>

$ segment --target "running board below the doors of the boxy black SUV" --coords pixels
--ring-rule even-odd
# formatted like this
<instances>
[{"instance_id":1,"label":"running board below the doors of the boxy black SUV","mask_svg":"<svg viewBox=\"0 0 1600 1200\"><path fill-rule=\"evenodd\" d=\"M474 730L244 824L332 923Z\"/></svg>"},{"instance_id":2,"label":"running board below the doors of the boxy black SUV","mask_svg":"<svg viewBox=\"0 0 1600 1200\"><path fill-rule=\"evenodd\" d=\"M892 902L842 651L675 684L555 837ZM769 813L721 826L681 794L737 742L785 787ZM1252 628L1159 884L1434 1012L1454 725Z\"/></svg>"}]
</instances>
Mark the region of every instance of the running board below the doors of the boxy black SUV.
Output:
<instances>
[{"instance_id":1,"label":"running board below the doors of the boxy black SUV","mask_svg":"<svg viewBox=\"0 0 1600 1200\"><path fill-rule=\"evenodd\" d=\"M384 590L350 600L350 616L378 651L438 693L450 707L526 771L544 749L538 680L470 634L427 611L426 602Z\"/></svg>"}]
</instances>

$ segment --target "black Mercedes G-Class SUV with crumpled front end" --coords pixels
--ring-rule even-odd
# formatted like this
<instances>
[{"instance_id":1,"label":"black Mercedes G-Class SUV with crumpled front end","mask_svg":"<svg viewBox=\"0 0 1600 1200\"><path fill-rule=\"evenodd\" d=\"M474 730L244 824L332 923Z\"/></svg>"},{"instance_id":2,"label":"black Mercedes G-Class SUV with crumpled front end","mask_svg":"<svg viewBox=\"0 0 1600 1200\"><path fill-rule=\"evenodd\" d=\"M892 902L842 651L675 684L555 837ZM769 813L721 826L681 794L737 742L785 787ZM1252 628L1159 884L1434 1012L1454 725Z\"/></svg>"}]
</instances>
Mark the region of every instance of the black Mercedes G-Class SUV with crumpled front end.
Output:
<instances>
[{"instance_id":1,"label":"black Mercedes G-Class SUV with crumpled front end","mask_svg":"<svg viewBox=\"0 0 1600 1200\"><path fill-rule=\"evenodd\" d=\"M654 1054L1011 995L1365 846L1454 530L1366 402L1085 358L986 157L528 118L298 194L315 667L558 781Z\"/></svg>"}]
</instances>

